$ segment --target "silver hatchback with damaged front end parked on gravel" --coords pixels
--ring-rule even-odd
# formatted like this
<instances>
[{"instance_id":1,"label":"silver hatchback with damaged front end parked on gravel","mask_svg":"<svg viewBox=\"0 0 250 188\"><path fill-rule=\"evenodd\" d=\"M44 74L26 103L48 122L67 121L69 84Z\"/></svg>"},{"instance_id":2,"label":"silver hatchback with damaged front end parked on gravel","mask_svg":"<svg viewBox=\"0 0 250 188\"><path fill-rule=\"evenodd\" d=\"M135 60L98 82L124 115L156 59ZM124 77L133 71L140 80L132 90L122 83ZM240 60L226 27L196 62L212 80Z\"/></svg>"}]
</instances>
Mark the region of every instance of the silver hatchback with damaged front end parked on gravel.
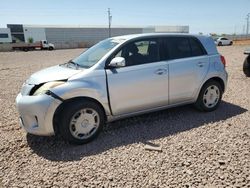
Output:
<instances>
[{"instance_id":1,"label":"silver hatchback with damaged front end parked on gravel","mask_svg":"<svg viewBox=\"0 0 250 188\"><path fill-rule=\"evenodd\" d=\"M227 85L225 63L207 36L109 38L31 75L16 98L20 122L31 134L82 144L117 119L190 103L213 111Z\"/></svg>"}]
</instances>

